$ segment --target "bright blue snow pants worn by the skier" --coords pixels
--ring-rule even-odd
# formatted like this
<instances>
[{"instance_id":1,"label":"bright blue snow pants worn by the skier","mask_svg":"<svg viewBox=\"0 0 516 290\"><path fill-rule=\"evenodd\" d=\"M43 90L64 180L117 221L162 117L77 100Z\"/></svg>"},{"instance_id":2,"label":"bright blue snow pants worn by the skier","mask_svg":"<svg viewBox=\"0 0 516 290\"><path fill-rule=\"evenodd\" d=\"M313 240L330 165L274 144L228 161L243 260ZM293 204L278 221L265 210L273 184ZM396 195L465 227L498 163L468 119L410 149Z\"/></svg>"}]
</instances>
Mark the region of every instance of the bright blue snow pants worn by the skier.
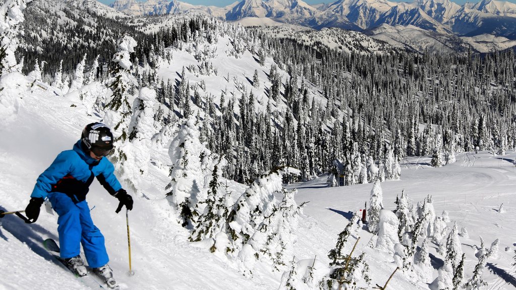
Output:
<instances>
[{"instance_id":1,"label":"bright blue snow pants worn by the skier","mask_svg":"<svg viewBox=\"0 0 516 290\"><path fill-rule=\"evenodd\" d=\"M90 268L107 264L109 257L104 245L104 236L93 224L88 203L73 203L72 199L62 192L50 192L49 200L59 215L57 232L61 258L67 259L78 255L82 244Z\"/></svg>"}]
</instances>

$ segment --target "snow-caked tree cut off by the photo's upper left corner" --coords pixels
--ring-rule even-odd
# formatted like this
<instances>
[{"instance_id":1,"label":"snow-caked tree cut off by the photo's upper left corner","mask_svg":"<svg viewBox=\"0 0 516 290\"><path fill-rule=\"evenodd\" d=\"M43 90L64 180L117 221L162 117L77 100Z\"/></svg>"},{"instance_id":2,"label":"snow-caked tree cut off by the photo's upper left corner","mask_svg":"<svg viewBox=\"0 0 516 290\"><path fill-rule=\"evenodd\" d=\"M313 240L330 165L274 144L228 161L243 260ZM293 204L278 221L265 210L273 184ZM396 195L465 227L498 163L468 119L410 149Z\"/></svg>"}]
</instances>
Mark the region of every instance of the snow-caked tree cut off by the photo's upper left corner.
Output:
<instances>
[{"instance_id":1,"label":"snow-caked tree cut off by the photo's upper left corner","mask_svg":"<svg viewBox=\"0 0 516 290\"><path fill-rule=\"evenodd\" d=\"M14 52L18 49L23 9L31 0L7 0L0 7L0 77L5 73L22 71L17 65Z\"/></svg>"}]
</instances>

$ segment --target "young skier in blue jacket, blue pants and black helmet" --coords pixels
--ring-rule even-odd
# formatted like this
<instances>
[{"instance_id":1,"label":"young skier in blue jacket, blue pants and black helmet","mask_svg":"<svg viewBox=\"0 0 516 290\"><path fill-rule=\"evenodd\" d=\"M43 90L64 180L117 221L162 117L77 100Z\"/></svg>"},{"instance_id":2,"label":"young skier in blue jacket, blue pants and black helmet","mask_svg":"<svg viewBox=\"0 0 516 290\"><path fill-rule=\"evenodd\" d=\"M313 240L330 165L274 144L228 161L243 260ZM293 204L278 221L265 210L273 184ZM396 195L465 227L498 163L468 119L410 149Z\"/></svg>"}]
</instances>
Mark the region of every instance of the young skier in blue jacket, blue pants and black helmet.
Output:
<instances>
[{"instance_id":1,"label":"young skier in blue jacket, blue pants and black helmet","mask_svg":"<svg viewBox=\"0 0 516 290\"><path fill-rule=\"evenodd\" d=\"M133 209L132 197L118 182L114 166L104 158L112 151L113 141L113 134L106 125L88 124L73 149L59 153L52 165L41 173L25 209L26 222L36 222L40 207L48 198L59 215L57 231L61 259L76 275L85 276L87 270L79 255L82 244L88 266L108 286L115 286L116 282L107 264L104 236L93 224L86 194L96 177L109 194L120 201L117 213L124 205L127 210Z\"/></svg>"}]
</instances>

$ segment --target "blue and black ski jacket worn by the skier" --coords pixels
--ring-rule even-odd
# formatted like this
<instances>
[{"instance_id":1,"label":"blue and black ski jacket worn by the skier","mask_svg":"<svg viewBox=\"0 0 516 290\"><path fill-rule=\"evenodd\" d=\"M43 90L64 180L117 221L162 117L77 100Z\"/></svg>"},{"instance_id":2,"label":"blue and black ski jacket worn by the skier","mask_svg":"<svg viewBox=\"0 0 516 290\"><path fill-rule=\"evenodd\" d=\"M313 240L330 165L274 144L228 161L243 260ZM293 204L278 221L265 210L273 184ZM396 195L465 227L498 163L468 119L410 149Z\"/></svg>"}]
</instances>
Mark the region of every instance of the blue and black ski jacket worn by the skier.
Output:
<instances>
[{"instance_id":1,"label":"blue and black ski jacket worn by the skier","mask_svg":"<svg viewBox=\"0 0 516 290\"><path fill-rule=\"evenodd\" d=\"M44 199L50 192L62 192L73 202L81 202L86 199L95 177L109 194L116 195L122 186L114 174L115 167L106 157L92 158L82 149L81 143L79 140L72 150L57 155L52 165L39 175L30 197Z\"/></svg>"}]
</instances>

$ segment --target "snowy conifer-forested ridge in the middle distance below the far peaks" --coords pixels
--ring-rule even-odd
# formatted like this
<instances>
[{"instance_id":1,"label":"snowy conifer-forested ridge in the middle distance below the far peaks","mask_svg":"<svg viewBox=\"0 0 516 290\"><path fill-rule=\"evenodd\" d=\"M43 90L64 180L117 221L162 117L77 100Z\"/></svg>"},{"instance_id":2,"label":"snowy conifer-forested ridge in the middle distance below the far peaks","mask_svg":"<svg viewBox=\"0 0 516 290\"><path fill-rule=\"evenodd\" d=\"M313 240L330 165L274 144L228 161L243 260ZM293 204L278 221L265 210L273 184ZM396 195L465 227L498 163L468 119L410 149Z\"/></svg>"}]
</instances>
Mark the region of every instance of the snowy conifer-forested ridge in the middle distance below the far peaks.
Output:
<instances>
[{"instance_id":1,"label":"snowy conifer-forested ridge in the middle distance below the far peaks","mask_svg":"<svg viewBox=\"0 0 516 290\"><path fill-rule=\"evenodd\" d=\"M387 159L394 156L451 158L455 151L477 146L496 152L514 146L511 50L483 57L406 53L353 42L358 34L349 34L343 49L314 46L288 34L270 37L261 28L223 26L200 14L104 17L47 3L35 1L26 10L46 11L41 14L45 21L30 13L25 22L20 56L27 73L35 70L37 58L43 79L51 83L57 58L63 57L62 78L70 84L77 75L73 68L84 59L88 71L99 54L106 55L107 71L112 65L107 56L115 51L103 43L112 43L120 31L133 35L139 43L132 54L139 63L134 68L138 85L158 92L156 121L166 125L191 111L210 120L203 138L210 150L228 156L224 174L239 182L287 164L302 169L302 180L333 166L351 166L347 172L354 173L346 184L352 184L366 181L360 178L362 168L372 162L390 172L395 165ZM63 14L72 21L59 20ZM32 21L62 23L54 31L62 40L45 46L46 29L30 29ZM77 29L88 33L77 34ZM224 34L228 42L219 42ZM76 39L76 50L67 49L68 37ZM62 54L51 53L59 47ZM174 63L178 54L184 60L170 68L167 62ZM106 73L99 61L91 79ZM238 70L225 65L234 61L243 65ZM393 164L382 165L387 162Z\"/></svg>"}]
</instances>

